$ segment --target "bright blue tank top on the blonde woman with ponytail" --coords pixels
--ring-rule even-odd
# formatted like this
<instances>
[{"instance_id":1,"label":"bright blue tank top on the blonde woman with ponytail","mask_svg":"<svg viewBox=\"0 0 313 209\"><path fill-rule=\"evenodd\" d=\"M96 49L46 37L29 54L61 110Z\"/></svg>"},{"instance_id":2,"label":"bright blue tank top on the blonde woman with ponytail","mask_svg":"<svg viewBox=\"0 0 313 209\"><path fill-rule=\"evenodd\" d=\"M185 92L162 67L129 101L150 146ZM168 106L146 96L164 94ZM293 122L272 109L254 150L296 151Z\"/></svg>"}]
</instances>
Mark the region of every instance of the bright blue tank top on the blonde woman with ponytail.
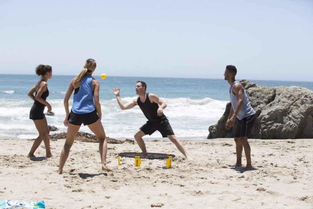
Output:
<instances>
[{"instance_id":1,"label":"bright blue tank top on the blonde woman with ponytail","mask_svg":"<svg viewBox=\"0 0 313 209\"><path fill-rule=\"evenodd\" d=\"M76 114L85 114L95 110L92 79L92 76L84 76L80 81L78 92L74 94L72 111Z\"/></svg>"}]
</instances>

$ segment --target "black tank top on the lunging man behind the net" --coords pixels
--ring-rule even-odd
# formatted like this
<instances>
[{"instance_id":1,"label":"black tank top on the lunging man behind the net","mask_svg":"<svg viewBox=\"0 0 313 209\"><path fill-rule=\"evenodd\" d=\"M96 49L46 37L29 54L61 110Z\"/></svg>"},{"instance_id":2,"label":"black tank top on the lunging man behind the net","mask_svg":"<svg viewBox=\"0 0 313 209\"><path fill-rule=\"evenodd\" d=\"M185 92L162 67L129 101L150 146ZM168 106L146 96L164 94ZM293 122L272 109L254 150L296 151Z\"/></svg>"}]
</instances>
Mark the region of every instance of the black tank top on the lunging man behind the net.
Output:
<instances>
[{"instance_id":1,"label":"black tank top on the lunging man behind the net","mask_svg":"<svg viewBox=\"0 0 313 209\"><path fill-rule=\"evenodd\" d=\"M159 109L159 105L157 103L151 103L149 100L149 93L146 93L146 101L142 103L140 98L137 98L137 104L142 110L143 114L146 118L152 123L159 123L163 120L166 120L166 116L163 114L162 116L157 115L157 110Z\"/></svg>"}]
</instances>

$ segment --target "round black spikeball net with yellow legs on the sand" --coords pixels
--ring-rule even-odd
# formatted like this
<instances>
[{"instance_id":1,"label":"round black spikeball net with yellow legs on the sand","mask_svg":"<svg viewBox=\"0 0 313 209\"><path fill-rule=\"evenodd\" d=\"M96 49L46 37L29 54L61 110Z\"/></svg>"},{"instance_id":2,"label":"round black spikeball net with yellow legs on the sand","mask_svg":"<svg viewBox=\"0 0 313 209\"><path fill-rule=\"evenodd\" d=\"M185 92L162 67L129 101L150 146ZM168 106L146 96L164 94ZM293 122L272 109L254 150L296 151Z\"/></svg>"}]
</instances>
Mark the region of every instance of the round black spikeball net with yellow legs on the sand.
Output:
<instances>
[{"instance_id":1,"label":"round black spikeball net with yellow legs on the sand","mask_svg":"<svg viewBox=\"0 0 313 209\"><path fill-rule=\"evenodd\" d=\"M172 158L175 157L173 154L164 154L164 153L149 153L149 152L122 152L117 155L118 165L120 163L120 157L126 158L135 158L135 166L140 167L141 159L166 159L166 167L170 168L172 166Z\"/></svg>"}]
</instances>

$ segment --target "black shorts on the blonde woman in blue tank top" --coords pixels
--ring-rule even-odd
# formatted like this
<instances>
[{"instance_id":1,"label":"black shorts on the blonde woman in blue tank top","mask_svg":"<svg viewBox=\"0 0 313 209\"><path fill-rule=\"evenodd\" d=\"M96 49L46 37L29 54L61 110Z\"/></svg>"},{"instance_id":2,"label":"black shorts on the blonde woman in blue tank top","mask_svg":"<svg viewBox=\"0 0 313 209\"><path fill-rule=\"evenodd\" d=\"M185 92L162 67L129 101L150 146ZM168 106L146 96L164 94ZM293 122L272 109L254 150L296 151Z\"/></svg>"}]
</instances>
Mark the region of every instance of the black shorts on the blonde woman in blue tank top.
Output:
<instances>
[{"instance_id":1,"label":"black shorts on the blonde woman in blue tank top","mask_svg":"<svg viewBox=\"0 0 313 209\"><path fill-rule=\"evenodd\" d=\"M67 118L70 124L78 126L80 126L82 123L84 123L84 126L90 125L92 123L95 123L98 119L99 116L96 110L85 114L76 114L71 110L71 112L69 113L69 117Z\"/></svg>"}]
</instances>

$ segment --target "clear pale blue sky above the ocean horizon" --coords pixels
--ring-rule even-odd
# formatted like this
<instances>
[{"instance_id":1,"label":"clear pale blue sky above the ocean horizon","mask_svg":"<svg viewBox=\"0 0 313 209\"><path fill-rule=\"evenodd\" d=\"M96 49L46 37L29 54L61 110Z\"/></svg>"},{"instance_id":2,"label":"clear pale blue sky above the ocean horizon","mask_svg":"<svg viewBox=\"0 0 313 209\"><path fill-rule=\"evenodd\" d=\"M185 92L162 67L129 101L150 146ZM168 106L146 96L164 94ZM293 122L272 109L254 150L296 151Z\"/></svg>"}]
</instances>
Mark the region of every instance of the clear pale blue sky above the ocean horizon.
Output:
<instances>
[{"instance_id":1,"label":"clear pale blue sky above the ocean horizon","mask_svg":"<svg viewBox=\"0 0 313 209\"><path fill-rule=\"evenodd\" d=\"M0 0L0 74L312 81L313 1Z\"/></svg>"}]
</instances>

